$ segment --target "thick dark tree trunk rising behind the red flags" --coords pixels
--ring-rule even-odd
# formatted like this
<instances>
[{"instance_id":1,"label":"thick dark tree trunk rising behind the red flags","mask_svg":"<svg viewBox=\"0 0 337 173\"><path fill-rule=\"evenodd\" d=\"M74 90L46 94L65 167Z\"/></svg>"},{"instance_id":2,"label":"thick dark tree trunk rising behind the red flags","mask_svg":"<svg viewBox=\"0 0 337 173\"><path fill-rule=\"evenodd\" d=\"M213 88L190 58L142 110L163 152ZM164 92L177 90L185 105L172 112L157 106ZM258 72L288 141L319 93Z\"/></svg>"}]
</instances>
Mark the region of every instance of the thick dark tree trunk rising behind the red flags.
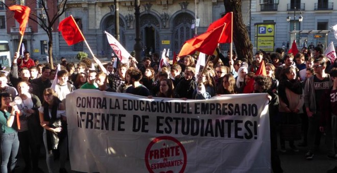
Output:
<instances>
[{"instance_id":1,"label":"thick dark tree trunk rising behind the red flags","mask_svg":"<svg viewBox=\"0 0 337 173\"><path fill-rule=\"evenodd\" d=\"M246 25L243 22L241 0L224 0L226 13L233 12L233 42L237 57L253 61L253 45L248 36Z\"/></svg>"}]
</instances>

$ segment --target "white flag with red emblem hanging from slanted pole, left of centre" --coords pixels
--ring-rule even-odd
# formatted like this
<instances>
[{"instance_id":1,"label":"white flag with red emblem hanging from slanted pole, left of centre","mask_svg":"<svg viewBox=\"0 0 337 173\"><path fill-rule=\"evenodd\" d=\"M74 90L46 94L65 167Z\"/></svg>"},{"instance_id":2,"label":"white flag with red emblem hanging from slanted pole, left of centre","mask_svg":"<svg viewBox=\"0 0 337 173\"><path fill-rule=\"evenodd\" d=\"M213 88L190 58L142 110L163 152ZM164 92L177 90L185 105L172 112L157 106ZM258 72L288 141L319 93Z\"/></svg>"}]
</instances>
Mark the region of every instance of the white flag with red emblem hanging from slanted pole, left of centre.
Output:
<instances>
[{"instance_id":1,"label":"white flag with red emblem hanging from slanted pole, left of centre","mask_svg":"<svg viewBox=\"0 0 337 173\"><path fill-rule=\"evenodd\" d=\"M122 63L128 63L129 57L131 56L130 53L111 34L106 31L104 31L104 33L107 35L108 42L115 52L116 56L118 57L119 61L121 61Z\"/></svg>"}]
</instances>

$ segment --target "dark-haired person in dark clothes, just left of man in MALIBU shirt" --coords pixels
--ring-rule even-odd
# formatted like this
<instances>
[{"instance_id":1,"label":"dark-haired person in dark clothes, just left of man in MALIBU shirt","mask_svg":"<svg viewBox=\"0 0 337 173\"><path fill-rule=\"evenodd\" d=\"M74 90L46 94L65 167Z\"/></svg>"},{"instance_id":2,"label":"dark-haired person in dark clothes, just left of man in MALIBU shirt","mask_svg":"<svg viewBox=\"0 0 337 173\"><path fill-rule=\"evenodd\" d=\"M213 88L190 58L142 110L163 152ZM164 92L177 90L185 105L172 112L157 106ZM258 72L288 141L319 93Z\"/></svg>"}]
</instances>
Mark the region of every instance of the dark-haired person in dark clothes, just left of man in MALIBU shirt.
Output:
<instances>
[{"instance_id":1,"label":"dark-haired person in dark clothes, just left of man in MALIBU shirt","mask_svg":"<svg viewBox=\"0 0 337 173\"><path fill-rule=\"evenodd\" d=\"M287 67L281 73L279 85L279 112L281 113L282 124L299 124L300 113L303 113L303 88L301 81L296 76L295 67ZM298 133L296 131L294 134ZM281 135L281 152L286 152L285 141ZM294 140L289 141L290 148L294 152L299 150L294 145Z\"/></svg>"}]
</instances>

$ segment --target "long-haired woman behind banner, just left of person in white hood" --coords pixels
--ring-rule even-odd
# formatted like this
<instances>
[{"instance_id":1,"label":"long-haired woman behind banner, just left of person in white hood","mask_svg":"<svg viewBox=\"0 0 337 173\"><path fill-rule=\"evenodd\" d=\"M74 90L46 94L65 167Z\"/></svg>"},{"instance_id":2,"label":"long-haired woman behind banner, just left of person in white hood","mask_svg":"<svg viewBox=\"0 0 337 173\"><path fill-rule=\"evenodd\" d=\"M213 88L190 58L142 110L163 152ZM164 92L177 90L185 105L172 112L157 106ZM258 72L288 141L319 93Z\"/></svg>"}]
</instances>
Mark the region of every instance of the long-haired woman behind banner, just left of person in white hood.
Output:
<instances>
[{"instance_id":1,"label":"long-haired woman behind banner, just left of person in white hood","mask_svg":"<svg viewBox=\"0 0 337 173\"><path fill-rule=\"evenodd\" d=\"M232 74L228 73L222 78L222 84L218 86L218 92L216 92L216 94L237 94L235 78Z\"/></svg>"}]
</instances>

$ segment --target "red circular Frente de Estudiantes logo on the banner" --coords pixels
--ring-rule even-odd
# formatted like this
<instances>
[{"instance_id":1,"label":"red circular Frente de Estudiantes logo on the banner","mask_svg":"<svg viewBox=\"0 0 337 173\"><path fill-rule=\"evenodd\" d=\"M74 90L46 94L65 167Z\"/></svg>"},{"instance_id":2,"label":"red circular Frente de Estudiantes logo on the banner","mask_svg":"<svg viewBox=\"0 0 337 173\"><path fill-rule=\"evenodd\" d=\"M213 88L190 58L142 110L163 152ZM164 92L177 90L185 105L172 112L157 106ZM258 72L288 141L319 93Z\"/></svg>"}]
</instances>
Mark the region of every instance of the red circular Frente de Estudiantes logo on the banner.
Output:
<instances>
[{"instance_id":1,"label":"red circular Frente de Estudiantes logo on the banner","mask_svg":"<svg viewBox=\"0 0 337 173\"><path fill-rule=\"evenodd\" d=\"M154 138L145 151L145 163L149 172L184 172L186 161L184 146L171 136Z\"/></svg>"}]
</instances>

